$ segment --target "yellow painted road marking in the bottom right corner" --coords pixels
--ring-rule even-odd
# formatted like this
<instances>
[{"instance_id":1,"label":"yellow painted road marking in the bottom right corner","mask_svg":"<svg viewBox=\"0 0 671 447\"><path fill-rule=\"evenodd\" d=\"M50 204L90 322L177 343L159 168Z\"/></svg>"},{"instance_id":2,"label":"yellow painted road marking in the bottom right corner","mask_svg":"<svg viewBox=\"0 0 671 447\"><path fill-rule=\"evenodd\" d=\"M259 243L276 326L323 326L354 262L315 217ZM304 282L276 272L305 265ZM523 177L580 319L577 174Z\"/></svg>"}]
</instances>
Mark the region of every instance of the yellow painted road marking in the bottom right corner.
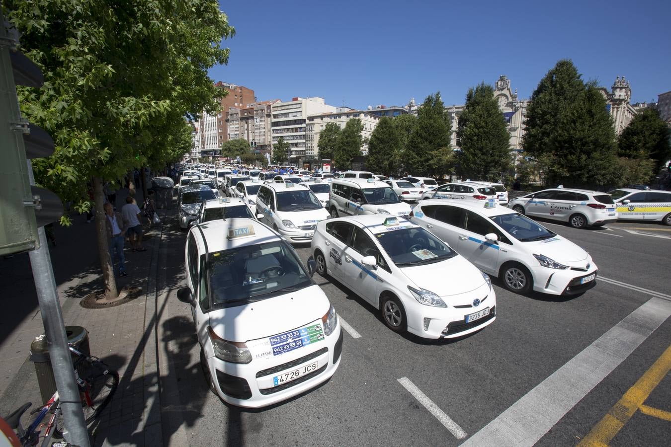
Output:
<instances>
[{"instance_id":1,"label":"yellow painted road marking in the bottom right corner","mask_svg":"<svg viewBox=\"0 0 671 447\"><path fill-rule=\"evenodd\" d=\"M666 348L659 359L652 364L652 367L644 373L640 379L634 383L633 387L629 388L622 398L613 405L613 408L608 411L606 416L594 427L592 430L580 441L578 446L607 446L617 432L619 432L625 424L629 421L633 413L641 406L646 407L646 411L641 409L641 412L649 414L650 416L671 416L668 411L648 407L643 405L643 402L648 399L648 395L652 392L660 381L666 377L671 370L671 346ZM666 417L660 419L667 420Z\"/></svg>"}]
</instances>

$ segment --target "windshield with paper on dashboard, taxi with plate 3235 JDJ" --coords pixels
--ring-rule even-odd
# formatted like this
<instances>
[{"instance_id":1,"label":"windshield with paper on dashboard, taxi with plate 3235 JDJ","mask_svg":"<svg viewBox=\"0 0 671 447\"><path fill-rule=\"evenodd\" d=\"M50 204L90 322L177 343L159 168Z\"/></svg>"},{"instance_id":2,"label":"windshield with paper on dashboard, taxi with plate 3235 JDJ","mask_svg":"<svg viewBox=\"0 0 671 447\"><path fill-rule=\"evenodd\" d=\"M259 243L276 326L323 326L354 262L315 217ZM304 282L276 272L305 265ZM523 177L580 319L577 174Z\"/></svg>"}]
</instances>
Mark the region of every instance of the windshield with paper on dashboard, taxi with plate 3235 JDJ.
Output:
<instances>
[{"instance_id":1,"label":"windshield with paper on dashboard, taxi with plate 3235 JDJ","mask_svg":"<svg viewBox=\"0 0 671 447\"><path fill-rule=\"evenodd\" d=\"M456 252L423 228L385 231L375 236L399 267L431 264L456 256Z\"/></svg>"}]
</instances>

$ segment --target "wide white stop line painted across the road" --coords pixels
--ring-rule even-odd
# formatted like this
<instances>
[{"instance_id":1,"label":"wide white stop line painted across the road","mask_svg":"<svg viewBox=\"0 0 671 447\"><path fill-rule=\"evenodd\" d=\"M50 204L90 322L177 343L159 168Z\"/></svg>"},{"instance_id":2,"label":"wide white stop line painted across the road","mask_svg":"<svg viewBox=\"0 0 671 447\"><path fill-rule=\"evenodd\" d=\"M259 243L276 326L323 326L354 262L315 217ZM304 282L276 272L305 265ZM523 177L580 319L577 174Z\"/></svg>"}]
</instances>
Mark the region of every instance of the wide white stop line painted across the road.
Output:
<instances>
[{"instance_id":1,"label":"wide white stop line painted across the road","mask_svg":"<svg viewBox=\"0 0 671 447\"><path fill-rule=\"evenodd\" d=\"M669 316L671 302L651 298L462 446L533 446Z\"/></svg>"}]
</instances>

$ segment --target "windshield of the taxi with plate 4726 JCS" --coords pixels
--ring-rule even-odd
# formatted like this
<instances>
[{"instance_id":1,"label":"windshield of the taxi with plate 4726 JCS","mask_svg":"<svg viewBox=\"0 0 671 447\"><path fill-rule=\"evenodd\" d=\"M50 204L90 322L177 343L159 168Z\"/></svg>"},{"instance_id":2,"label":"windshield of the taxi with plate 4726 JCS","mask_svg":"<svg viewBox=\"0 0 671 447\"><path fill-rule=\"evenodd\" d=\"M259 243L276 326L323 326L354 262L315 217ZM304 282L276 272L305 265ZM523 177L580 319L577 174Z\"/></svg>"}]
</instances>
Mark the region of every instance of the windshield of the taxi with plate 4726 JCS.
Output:
<instances>
[{"instance_id":1,"label":"windshield of the taxi with plate 4726 JCS","mask_svg":"<svg viewBox=\"0 0 671 447\"><path fill-rule=\"evenodd\" d=\"M275 241L210 254L213 306L234 307L312 284L287 243Z\"/></svg>"}]
</instances>

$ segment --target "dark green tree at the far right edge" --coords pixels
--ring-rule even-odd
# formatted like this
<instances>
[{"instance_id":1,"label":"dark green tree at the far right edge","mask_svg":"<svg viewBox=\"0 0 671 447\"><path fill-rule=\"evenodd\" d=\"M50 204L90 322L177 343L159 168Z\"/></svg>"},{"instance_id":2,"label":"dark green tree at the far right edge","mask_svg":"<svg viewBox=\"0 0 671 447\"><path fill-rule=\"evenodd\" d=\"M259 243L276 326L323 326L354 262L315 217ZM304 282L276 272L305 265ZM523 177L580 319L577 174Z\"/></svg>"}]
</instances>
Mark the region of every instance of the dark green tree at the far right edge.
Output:
<instances>
[{"instance_id":1,"label":"dark green tree at the far right edge","mask_svg":"<svg viewBox=\"0 0 671 447\"><path fill-rule=\"evenodd\" d=\"M652 159L650 175L658 172L671 157L669 128L653 107L634 115L617 141L617 155L629 159Z\"/></svg>"}]
</instances>

